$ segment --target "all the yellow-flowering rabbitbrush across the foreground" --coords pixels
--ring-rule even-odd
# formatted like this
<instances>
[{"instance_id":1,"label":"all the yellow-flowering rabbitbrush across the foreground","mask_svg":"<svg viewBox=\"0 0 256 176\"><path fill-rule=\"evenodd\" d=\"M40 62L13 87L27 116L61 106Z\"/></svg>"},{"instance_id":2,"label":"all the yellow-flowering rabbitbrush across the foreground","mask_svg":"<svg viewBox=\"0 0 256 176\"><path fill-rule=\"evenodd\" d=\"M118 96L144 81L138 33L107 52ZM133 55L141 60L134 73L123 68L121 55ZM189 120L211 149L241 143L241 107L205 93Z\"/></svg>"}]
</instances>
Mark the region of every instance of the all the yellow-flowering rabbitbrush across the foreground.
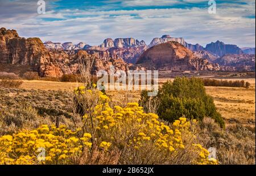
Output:
<instances>
[{"instance_id":1,"label":"all the yellow-flowering rabbitbrush across the foreground","mask_svg":"<svg viewBox=\"0 0 256 176\"><path fill-rule=\"evenodd\" d=\"M0 164L88 164L85 158L95 158L95 150L109 154L111 164L217 164L196 143L195 122L180 118L168 125L158 115L144 113L137 103L110 108L107 96L92 95L100 96L100 101L93 107L92 122L88 115L82 117L84 129L43 125L2 136ZM40 155L42 148L45 156ZM118 156L112 159L112 153Z\"/></svg>"}]
</instances>

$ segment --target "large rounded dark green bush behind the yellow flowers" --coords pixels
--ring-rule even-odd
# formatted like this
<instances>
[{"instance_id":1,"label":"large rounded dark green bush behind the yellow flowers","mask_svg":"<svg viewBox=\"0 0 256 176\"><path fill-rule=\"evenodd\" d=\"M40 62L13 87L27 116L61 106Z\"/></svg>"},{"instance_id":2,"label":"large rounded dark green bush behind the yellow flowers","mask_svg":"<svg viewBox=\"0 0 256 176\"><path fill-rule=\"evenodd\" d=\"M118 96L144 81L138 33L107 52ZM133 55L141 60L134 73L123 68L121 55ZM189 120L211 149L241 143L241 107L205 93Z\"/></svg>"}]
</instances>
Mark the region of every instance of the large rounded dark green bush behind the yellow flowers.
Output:
<instances>
[{"instance_id":1,"label":"large rounded dark green bush behind the yellow flowers","mask_svg":"<svg viewBox=\"0 0 256 176\"><path fill-rule=\"evenodd\" d=\"M142 105L148 101L147 92L142 91ZM160 118L174 122L182 116L188 119L203 120L204 117L213 118L215 122L224 127L224 120L217 112L213 98L205 92L204 82L198 78L175 78L167 81L159 89L160 105L158 115Z\"/></svg>"}]
</instances>

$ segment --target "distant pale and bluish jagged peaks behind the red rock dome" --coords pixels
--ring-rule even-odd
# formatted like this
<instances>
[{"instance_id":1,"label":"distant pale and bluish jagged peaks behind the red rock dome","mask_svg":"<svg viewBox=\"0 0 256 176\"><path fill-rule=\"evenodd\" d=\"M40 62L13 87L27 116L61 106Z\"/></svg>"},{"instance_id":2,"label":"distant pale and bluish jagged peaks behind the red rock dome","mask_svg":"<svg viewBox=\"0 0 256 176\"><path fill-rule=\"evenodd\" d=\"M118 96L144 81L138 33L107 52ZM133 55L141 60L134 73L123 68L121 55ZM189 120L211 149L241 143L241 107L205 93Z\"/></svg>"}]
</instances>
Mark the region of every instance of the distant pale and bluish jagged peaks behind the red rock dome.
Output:
<instances>
[{"instance_id":1,"label":"distant pale and bluish jagged peaks behind the red rock dome","mask_svg":"<svg viewBox=\"0 0 256 176\"><path fill-rule=\"evenodd\" d=\"M224 44L224 42L216 41L201 46L200 44L189 44L184 40L184 38L176 38L171 37L170 35L163 35L162 37L153 38L149 45L146 44L145 41L139 41L134 38L116 38L113 40L112 38L106 38L101 45L98 46L90 46L85 44L84 42L80 42L77 45L73 45L72 42L61 43L53 43L51 41L47 41L44 43L47 49L64 49L64 50L97 50L97 51L108 51L110 55L117 54L124 61L128 63L136 63L139 55L141 55L144 51L152 46L163 44L169 41L179 42L181 45L185 46L189 50L199 51L207 55L209 60L213 58L220 58L225 54L255 54L255 48L239 48L237 45ZM195 53L198 55L197 53ZM204 55L205 55L204 54ZM214 56L214 57L212 57Z\"/></svg>"}]
</instances>

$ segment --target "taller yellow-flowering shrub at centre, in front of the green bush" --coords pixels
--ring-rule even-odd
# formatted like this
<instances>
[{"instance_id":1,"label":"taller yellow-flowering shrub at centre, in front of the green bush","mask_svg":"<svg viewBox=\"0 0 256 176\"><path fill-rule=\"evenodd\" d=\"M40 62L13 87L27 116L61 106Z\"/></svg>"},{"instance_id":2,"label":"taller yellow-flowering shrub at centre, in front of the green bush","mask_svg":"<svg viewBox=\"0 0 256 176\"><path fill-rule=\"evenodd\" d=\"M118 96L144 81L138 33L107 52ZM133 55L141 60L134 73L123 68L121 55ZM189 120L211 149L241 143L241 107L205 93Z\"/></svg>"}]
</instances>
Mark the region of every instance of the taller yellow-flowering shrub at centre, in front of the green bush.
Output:
<instances>
[{"instance_id":1,"label":"taller yellow-flowering shrub at centre, in front of the green bush","mask_svg":"<svg viewBox=\"0 0 256 176\"><path fill-rule=\"evenodd\" d=\"M194 143L186 118L179 118L170 127L160 122L158 115L144 113L138 103L112 109L108 102L97 105L94 115L96 138L109 141L110 149L121 150L122 164L217 164L208 160L207 149Z\"/></svg>"}]
</instances>

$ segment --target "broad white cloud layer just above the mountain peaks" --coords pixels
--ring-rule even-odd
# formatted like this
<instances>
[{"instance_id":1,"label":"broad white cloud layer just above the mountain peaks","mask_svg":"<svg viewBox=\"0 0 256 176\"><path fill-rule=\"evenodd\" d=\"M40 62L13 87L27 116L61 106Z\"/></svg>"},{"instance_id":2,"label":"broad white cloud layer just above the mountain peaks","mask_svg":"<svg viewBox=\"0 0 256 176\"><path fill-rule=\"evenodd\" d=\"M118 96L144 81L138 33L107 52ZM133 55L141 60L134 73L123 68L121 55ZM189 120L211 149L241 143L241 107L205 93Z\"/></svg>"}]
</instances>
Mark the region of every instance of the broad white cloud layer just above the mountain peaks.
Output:
<instances>
[{"instance_id":1,"label":"broad white cloud layer just above the mountain peaks","mask_svg":"<svg viewBox=\"0 0 256 176\"><path fill-rule=\"evenodd\" d=\"M147 0L148 4L151 2ZM137 6L138 3L141 2L137 0ZM32 11L22 13L19 9L19 13L0 18L0 24L17 29L20 36L38 36L42 41L84 41L100 45L109 37L134 37L149 44L152 38L168 34L184 37L193 44L206 45L211 41L221 40L241 47L254 47L255 19L243 18L250 15L255 15L255 6L230 4L218 7L217 14L208 14L206 8L49 10L45 15L34 14ZM51 22L44 18L62 20Z\"/></svg>"}]
</instances>

